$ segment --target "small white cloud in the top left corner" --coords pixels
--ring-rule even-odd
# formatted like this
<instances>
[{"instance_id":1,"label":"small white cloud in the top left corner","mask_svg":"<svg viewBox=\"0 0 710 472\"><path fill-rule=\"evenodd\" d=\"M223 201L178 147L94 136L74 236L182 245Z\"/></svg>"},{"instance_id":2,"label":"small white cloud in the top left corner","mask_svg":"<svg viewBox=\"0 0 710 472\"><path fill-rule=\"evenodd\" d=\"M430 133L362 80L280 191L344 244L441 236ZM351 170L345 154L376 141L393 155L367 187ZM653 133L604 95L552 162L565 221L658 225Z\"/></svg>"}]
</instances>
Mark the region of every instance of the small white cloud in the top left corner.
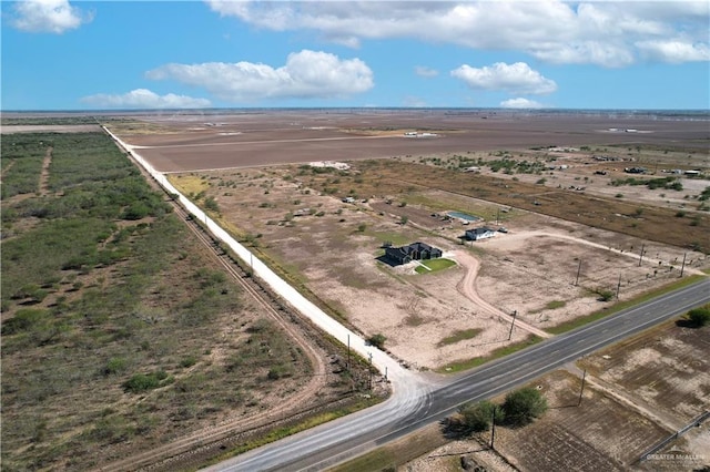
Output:
<instances>
[{"instance_id":1,"label":"small white cloud in the top left corner","mask_svg":"<svg viewBox=\"0 0 710 472\"><path fill-rule=\"evenodd\" d=\"M92 14L83 13L68 0L26 0L14 4L11 23L22 31L61 34L92 19Z\"/></svg>"}]
</instances>

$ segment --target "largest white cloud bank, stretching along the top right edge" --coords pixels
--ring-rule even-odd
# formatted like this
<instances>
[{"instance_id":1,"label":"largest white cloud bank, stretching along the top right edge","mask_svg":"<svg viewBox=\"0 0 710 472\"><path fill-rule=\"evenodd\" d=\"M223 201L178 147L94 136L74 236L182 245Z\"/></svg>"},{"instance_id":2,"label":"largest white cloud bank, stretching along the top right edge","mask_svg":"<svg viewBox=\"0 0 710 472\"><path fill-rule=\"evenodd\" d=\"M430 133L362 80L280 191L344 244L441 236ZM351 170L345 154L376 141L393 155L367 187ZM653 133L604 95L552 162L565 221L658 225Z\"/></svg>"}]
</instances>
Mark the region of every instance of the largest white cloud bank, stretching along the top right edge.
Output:
<instances>
[{"instance_id":1,"label":"largest white cloud bank, stretching along the top right edge","mask_svg":"<svg viewBox=\"0 0 710 472\"><path fill-rule=\"evenodd\" d=\"M687 38L708 48L707 1L462 1L462 2L248 2L207 1L224 17L275 31L311 30L358 47L363 39L417 38L473 49L523 51L554 63L626 66L646 54L646 42Z\"/></svg>"}]
</instances>

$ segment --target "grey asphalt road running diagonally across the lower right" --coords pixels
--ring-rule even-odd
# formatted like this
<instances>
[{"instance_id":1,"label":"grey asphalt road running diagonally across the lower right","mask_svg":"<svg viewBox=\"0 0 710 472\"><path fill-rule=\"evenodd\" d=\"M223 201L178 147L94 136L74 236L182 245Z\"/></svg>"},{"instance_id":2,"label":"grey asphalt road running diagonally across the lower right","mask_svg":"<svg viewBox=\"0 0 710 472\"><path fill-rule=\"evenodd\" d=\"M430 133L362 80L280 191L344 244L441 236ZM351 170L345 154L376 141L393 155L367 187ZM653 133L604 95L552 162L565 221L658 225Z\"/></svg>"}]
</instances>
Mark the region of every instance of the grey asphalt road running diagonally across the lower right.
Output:
<instances>
[{"instance_id":1,"label":"grey asphalt road running diagonally across the lower right","mask_svg":"<svg viewBox=\"0 0 710 472\"><path fill-rule=\"evenodd\" d=\"M324 470L440 421L466 401L490 398L567 362L710 302L710 279L655 298L575 331L423 390L413 409L398 396L379 406L246 452L207 471Z\"/></svg>"}]
</instances>

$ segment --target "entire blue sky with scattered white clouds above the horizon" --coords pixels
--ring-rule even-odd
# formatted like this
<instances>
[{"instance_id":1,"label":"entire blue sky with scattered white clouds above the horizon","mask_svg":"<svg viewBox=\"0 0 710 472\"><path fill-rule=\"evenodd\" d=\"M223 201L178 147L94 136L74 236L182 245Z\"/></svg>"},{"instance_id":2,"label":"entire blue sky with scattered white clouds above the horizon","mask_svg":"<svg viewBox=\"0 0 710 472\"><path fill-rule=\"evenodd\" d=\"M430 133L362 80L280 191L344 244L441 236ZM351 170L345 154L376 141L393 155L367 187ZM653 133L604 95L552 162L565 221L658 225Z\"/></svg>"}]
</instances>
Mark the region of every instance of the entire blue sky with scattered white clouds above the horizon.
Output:
<instances>
[{"instance_id":1,"label":"entire blue sky with scattered white clouds above the horizon","mask_svg":"<svg viewBox=\"0 0 710 472\"><path fill-rule=\"evenodd\" d=\"M710 109L707 1L1 9L2 110Z\"/></svg>"}]
</instances>

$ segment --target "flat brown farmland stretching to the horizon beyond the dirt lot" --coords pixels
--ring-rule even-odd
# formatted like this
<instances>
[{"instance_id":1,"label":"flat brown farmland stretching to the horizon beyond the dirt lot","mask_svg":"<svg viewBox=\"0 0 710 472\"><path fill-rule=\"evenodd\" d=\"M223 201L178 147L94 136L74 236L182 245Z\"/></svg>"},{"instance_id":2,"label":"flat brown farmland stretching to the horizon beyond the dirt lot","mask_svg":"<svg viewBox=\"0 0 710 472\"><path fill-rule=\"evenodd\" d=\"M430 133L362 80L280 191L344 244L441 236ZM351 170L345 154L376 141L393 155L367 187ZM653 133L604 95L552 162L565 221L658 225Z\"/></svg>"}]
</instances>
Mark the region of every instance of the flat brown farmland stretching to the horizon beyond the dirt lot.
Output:
<instances>
[{"instance_id":1,"label":"flat brown farmland stretching to the horizon beyond the dirt lot","mask_svg":"<svg viewBox=\"0 0 710 472\"><path fill-rule=\"evenodd\" d=\"M156 115L111 126L126 142L145 146L141 155L162 172L597 143L707 148L710 134L703 121L489 111ZM434 135L412 137L405 132Z\"/></svg>"}]
</instances>

